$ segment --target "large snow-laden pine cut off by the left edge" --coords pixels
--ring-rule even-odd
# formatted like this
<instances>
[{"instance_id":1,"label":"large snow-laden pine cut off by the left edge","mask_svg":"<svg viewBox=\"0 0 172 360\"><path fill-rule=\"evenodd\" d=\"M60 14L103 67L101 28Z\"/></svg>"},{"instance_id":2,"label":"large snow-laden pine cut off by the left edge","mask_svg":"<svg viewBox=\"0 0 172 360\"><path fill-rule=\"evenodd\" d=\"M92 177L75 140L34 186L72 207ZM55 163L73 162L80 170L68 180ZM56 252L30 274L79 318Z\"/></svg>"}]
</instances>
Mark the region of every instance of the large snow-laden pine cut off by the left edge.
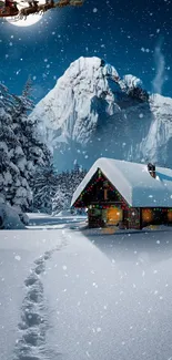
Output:
<instances>
[{"instance_id":1,"label":"large snow-laden pine cut off by the left edge","mask_svg":"<svg viewBox=\"0 0 172 360\"><path fill-rule=\"evenodd\" d=\"M13 101L0 84L0 197L27 210L31 204L29 168L18 136L13 131Z\"/></svg>"}]
</instances>

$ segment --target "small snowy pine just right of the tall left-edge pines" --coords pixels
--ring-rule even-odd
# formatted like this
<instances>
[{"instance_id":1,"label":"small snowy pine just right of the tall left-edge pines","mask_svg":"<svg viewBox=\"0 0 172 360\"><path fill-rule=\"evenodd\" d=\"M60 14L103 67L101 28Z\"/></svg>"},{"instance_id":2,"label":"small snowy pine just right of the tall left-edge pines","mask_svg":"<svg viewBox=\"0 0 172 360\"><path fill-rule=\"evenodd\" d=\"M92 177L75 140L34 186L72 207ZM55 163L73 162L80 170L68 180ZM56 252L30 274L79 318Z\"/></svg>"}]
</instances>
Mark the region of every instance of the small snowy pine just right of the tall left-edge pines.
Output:
<instances>
[{"instance_id":1,"label":"small snowy pine just right of the tall left-edge pines","mask_svg":"<svg viewBox=\"0 0 172 360\"><path fill-rule=\"evenodd\" d=\"M32 188L33 210L52 214L52 199L57 191L57 174L52 164L37 168Z\"/></svg>"}]
</instances>

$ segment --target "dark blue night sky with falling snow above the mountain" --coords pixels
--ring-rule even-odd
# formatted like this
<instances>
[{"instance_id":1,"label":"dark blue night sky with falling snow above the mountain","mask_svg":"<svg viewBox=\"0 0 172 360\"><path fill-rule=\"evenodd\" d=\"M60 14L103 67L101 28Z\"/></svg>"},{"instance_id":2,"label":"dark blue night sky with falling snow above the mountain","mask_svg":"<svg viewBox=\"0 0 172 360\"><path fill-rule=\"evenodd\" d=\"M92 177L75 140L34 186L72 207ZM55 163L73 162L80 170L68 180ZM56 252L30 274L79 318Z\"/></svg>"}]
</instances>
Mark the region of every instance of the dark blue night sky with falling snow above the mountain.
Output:
<instances>
[{"instance_id":1,"label":"dark blue night sky with falling snow above the mountain","mask_svg":"<svg viewBox=\"0 0 172 360\"><path fill-rule=\"evenodd\" d=\"M148 91L156 75L160 92L172 97L172 1L85 0L31 27L0 22L0 81L20 94L31 75L36 103L81 55L136 75Z\"/></svg>"}]
</instances>

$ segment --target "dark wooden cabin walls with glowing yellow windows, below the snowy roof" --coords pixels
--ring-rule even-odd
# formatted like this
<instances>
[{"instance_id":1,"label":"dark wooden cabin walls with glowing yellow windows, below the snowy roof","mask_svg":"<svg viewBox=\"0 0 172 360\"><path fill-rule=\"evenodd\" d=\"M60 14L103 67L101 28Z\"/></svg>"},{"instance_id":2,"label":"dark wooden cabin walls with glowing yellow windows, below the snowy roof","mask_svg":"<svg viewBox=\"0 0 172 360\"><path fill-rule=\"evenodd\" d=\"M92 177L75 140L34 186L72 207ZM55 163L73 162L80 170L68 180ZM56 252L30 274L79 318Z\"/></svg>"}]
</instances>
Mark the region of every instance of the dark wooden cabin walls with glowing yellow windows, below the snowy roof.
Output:
<instances>
[{"instance_id":1,"label":"dark wooden cabin walls with glowing yellow windows, below the snowy roof","mask_svg":"<svg viewBox=\"0 0 172 360\"><path fill-rule=\"evenodd\" d=\"M141 229L151 224L172 225L172 209L130 207L115 186L99 168L80 194L74 206L79 208L89 207L89 227L119 224L122 228ZM115 214L118 209L121 213L119 219Z\"/></svg>"}]
</instances>

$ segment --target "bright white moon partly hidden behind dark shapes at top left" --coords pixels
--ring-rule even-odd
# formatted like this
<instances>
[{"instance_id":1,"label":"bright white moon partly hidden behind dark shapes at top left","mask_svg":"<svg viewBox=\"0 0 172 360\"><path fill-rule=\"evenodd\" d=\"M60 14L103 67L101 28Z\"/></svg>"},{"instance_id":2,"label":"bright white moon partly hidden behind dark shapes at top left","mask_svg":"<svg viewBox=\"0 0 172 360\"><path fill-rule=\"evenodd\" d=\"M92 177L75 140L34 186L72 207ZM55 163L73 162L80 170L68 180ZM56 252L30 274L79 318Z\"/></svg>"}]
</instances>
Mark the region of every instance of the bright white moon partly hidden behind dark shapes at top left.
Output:
<instances>
[{"instance_id":1,"label":"bright white moon partly hidden behind dark shapes at top left","mask_svg":"<svg viewBox=\"0 0 172 360\"><path fill-rule=\"evenodd\" d=\"M39 1L39 4L44 3L44 2L45 1L41 0L41 1ZM28 2L22 2L22 6L21 6L21 3L18 4L19 10L21 10L23 8L28 8L28 7L29 7ZM28 16L26 19L24 18L19 19L19 17L17 16L17 17L7 18L6 20L14 27L31 27L31 25L36 24L37 22L39 22L42 19L42 16L43 16L42 13L33 13L33 14Z\"/></svg>"}]
</instances>

